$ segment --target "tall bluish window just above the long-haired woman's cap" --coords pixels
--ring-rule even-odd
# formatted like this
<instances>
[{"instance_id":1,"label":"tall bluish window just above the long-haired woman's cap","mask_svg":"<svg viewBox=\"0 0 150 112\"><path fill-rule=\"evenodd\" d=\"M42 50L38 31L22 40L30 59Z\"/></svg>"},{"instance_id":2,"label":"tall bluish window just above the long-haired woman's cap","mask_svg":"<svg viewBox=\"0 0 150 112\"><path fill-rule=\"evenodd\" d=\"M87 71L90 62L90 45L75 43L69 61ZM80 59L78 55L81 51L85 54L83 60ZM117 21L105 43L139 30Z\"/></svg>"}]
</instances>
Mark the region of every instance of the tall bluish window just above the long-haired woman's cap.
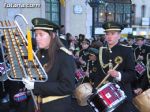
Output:
<instances>
[{"instance_id":1,"label":"tall bluish window just above the long-haired woman's cap","mask_svg":"<svg viewBox=\"0 0 150 112\"><path fill-rule=\"evenodd\" d=\"M48 20L60 23L59 0L45 0L45 11Z\"/></svg>"}]
</instances>

